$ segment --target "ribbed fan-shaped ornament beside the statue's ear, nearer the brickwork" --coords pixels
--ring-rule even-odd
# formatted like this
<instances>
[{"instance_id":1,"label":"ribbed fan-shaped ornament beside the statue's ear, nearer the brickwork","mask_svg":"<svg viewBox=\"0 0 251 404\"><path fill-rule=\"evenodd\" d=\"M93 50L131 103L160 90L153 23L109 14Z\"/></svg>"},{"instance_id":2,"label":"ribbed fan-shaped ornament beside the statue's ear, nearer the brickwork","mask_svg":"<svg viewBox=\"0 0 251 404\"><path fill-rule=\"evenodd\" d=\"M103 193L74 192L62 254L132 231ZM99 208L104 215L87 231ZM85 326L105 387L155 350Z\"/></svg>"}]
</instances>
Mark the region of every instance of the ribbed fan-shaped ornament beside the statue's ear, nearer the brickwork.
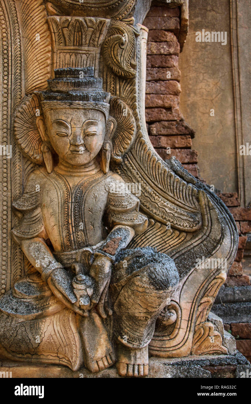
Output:
<instances>
[{"instance_id":1,"label":"ribbed fan-shaped ornament beside the statue's ear, nearer the brickwork","mask_svg":"<svg viewBox=\"0 0 251 404\"><path fill-rule=\"evenodd\" d=\"M111 98L110 115L117 122L116 131L112 137L112 158L120 163L122 155L128 151L135 137L135 119L131 108L118 97Z\"/></svg>"}]
</instances>

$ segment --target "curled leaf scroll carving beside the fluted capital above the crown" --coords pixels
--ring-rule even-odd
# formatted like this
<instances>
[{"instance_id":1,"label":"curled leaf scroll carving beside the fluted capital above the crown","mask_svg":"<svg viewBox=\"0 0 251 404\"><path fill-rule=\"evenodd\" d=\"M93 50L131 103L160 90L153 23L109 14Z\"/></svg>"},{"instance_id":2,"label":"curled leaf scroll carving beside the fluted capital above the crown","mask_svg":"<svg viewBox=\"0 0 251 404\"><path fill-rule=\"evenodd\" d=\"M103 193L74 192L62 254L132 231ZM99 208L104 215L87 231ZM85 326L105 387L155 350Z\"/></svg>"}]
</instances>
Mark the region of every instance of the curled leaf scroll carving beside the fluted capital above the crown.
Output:
<instances>
[{"instance_id":1,"label":"curled leaf scroll carving beside the fluted capital above the crown","mask_svg":"<svg viewBox=\"0 0 251 404\"><path fill-rule=\"evenodd\" d=\"M133 78L136 75L135 32L131 25L112 20L103 43L105 63L118 76Z\"/></svg>"}]
</instances>

